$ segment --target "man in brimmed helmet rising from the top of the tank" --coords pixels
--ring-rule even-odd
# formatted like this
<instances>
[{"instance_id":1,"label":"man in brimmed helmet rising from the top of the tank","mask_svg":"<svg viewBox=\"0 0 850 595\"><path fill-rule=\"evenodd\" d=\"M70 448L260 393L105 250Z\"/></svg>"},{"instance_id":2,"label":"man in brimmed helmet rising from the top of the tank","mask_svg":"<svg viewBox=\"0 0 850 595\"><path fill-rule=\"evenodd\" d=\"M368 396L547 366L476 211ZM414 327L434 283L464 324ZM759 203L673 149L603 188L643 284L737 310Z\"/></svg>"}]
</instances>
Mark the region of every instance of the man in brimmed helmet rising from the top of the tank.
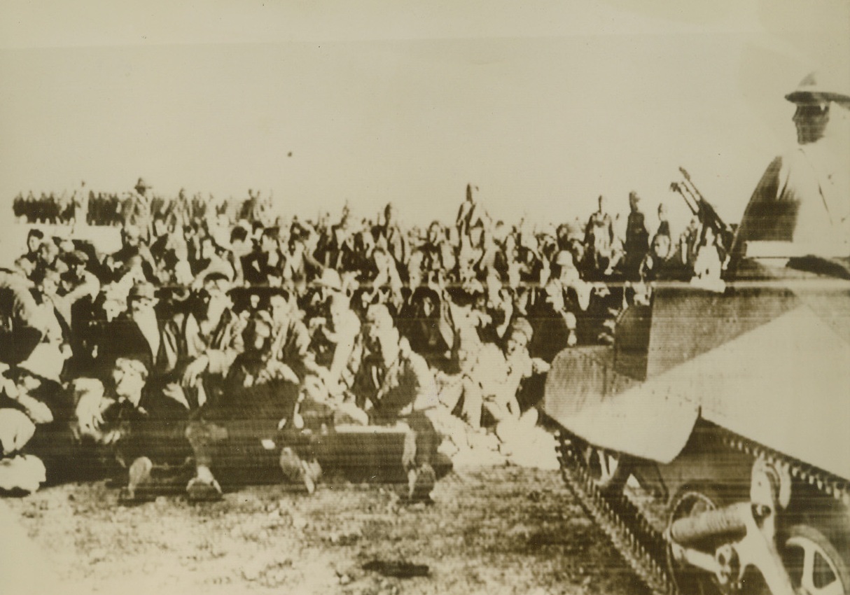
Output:
<instances>
[{"instance_id":1,"label":"man in brimmed helmet rising from the top of the tank","mask_svg":"<svg viewBox=\"0 0 850 595\"><path fill-rule=\"evenodd\" d=\"M735 236L733 258L745 255L748 241L791 241L798 255L846 258L850 84L812 73L785 99L796 105L797 146L762 175Z\"/></svg>"}]
</instances>

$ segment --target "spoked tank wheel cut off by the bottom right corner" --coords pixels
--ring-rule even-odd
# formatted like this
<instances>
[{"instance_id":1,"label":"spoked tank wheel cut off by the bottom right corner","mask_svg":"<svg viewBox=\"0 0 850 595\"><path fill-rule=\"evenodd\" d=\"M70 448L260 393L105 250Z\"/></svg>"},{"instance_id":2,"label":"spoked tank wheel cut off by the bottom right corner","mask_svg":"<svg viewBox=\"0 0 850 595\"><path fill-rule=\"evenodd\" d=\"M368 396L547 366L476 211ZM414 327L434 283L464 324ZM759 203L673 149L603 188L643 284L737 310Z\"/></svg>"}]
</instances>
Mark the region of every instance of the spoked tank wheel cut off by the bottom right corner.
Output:
<instances>
[{"instance_id":1,"label":"spoked tank wheel cut off by the bottom right corner","mask_svg":"<svg viewBox=\"0 0 850 595\"><path fill-rule=\"evenodd\" d=\"M796 524L788 531L783 550L791 582L805 595L850 595L850 570L835 547L819 530Z\"/></svg>"}]
</instances>

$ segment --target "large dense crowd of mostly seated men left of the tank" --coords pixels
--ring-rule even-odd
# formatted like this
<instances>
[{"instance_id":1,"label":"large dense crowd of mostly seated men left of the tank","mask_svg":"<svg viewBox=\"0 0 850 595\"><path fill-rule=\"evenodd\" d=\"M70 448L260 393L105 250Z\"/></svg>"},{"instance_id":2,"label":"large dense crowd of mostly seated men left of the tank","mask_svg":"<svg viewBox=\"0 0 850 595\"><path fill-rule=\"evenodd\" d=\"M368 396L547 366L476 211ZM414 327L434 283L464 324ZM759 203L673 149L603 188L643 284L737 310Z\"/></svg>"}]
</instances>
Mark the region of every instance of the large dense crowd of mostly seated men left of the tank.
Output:
<instances>
[{"instance_id":1,"label":"large dense crowd of mostly seated men left of the tank","mask_svg":"<svg viewBox=\"0 0 850 595\"><path fill-rule=\"evenodd\" d=\"M0 342L0 490L36 489L72 456L120 468L130 498L181 473L191 498L216 498L236 437L280 435L280 468L312 491L310 435L400 424L408 496L428 498L441 445L518 439L555 354L611 343L652 281L719 277L725 258L696 220L672 238L663 208L650 241L635 193L621 234L603 197L586 224L535 229L492 220L469 185L452 224L422 230L392 204L273 219L258 194L226 212L149 190L113 208L115 252L33 227L0 272L18 333Z\"/></svg>"}]
</instances>

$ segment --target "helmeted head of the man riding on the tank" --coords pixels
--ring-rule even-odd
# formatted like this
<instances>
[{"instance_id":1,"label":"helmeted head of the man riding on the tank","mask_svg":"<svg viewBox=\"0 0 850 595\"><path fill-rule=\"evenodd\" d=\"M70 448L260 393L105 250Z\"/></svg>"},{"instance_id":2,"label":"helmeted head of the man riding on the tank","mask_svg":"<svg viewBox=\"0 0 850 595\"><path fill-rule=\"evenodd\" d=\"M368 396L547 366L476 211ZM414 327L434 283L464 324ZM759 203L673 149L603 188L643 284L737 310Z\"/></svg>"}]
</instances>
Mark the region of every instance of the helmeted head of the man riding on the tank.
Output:
<instances>
[{"instance_id":1,"label":"helmeted head of the man riding on the tank","mask_svg":"<svg viewBox=\"0 0 850 595\"><path fill-rule=\"evenodd\" d=\"M814 143L828 133L830 121L847 121L850 85L836 81L836 77L812 72L785 99L796 105L791 119L796 125L797 143Z\"/></svg>"}]
</instances>

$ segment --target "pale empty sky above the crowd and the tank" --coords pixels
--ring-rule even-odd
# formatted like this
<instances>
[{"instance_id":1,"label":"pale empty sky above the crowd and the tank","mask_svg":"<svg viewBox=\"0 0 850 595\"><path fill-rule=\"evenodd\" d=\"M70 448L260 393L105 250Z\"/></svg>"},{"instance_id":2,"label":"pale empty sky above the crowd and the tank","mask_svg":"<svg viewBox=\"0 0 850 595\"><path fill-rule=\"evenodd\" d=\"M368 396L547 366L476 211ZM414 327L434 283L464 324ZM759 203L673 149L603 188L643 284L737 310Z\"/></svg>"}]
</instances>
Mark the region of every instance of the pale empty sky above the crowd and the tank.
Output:
<instances>
[{"instance_id":1,"label":"pale empty sky above the crowd and the tank","mask_svg":"<svg viewBox=\"0 0 850 595\"><path fill-rule=\"evenodd\" d=\"M850 73L846 0L4 2L0 209L26 190L246 197L314 216L675 212L687 167L730 221L794 143L783 99ZM288 154L292 152L292 156Z\"/></svg>"}]
</instances>

